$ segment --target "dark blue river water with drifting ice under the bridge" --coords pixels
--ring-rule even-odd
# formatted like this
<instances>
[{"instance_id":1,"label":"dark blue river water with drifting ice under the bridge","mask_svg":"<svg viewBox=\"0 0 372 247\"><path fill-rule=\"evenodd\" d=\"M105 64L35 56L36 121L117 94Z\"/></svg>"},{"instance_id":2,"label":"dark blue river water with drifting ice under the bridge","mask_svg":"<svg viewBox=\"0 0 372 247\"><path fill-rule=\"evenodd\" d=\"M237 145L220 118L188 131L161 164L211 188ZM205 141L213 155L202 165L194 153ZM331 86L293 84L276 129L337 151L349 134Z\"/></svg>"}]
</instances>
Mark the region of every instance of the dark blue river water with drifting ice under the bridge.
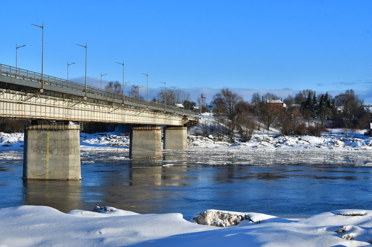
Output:
<instances>
[{"instance_id":1,"label":"dark blue river water with drifting ice under the bridge","mask_svg":"<svg viewBox=\"0 0 372 247\"><path fill-rule=\"evenodd\" d=\"M67 213L111 206L136 213L206 209L312 215L372 208L369 151L163 151L82 149L81 181L22 180L23 151L0 150L0 207L45 205Z\"/></svg>"}]
</instances>

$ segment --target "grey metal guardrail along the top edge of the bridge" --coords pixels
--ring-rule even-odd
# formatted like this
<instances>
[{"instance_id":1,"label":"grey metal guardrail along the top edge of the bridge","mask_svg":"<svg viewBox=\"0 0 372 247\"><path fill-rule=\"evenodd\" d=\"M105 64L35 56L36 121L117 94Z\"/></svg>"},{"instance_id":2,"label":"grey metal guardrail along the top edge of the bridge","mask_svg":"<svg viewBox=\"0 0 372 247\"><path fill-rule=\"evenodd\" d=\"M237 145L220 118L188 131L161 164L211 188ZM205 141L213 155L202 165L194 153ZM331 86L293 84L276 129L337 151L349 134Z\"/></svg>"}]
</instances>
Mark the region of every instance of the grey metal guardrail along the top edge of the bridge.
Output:
<instances>
[{"instance_id":1,"label":"grey metal guardrail along the top edge of the bridge","mask_svg":"<svg viewBox=\"0 0 372 247\"><path fill-rule=\"evenodd\" d=\"M0 74L1 75L7 75L7 76L14 76L17 78L23 78L26 80L33 80L35 82L40 82L41 81L41 73L29 71L29 70L24 70L16 67L12 67L9 65L3 65L0 63ZM50 85L55 85L55 86L60 86L62 88L68 88L68 89L73 89L73 90L78 90L78 91L85 91L85 84L78 83L78 82L72 82L70 80L65 80L61 78L57 78L54 76L48 76L48 75L43 75L43 80L45 83L48 83ZM87 85L87 92L88 93L93 93L96 95L102 95L110 98L115 98L115 99L124 99L124 101L127 102L134 102L134 103L140 103L143 105L147 105L147 101L144 99L139 99L135 98L132 96L128 95L123 95L121 93L115 93L112 91L96 88ZM154 106L158 108L163 108L164 109L164 104L149 101L148 102L149 106ZM176 113L182 113L182 114L187 114L193 117L198 117L198 114L193 114L192 112L189 112L185 109L180 109L180 108L175 108L174 106L166 105L165 106L166 110L168 112L173 112L174 109L176 109Z\"/></svg>"}]
</instances>

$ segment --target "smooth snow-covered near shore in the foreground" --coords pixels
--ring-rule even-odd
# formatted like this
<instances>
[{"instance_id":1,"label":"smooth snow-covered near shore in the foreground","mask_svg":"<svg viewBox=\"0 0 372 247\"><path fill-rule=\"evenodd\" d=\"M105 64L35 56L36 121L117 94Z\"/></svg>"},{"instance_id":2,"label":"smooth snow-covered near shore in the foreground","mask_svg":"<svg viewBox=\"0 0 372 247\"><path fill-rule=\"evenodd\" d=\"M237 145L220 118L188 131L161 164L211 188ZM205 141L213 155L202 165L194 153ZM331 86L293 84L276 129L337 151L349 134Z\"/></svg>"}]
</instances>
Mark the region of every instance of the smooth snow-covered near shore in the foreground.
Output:
<instances>
[{"instance_id":1,"label":"smooth snow-covered near shore in the foreground","mask_svg":"<svg viewBox=\"0 0 372 247\"><path fill-rule=\"evenodd\" d=\"M196 213L190 218L179 213L135 214L111 207L106 209L100 210L102 213L72 210L65 214L45 206L2 208L0 246L233 244L287 247L366 246L372 243L371 210L334 210L306 219L209 210L213 213L246 215L246 219L238 225L216 227L193 223L195 222L193 219L201 213Z\"/></svg>"}]
</instances>

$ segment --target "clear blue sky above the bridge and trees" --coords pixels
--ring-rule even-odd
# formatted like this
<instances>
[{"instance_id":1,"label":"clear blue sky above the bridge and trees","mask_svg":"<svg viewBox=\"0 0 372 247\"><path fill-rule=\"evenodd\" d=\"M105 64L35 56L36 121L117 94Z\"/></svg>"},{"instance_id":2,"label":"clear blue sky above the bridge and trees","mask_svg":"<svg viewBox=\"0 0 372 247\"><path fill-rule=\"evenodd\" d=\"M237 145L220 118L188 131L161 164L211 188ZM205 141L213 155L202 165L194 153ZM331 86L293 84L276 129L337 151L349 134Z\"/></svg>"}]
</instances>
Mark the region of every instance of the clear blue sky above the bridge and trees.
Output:
<instances>
[{"instance_id":1,"label":"clear blue sky above the bridge and trees","mask_svg":"<svg viewBox=\"0 0 372 247\"><path fill-rule=\"evenodd\" d=\"M372 102L371 1L5 1L0 63L84 81L177 86L207 101L223 87L241 93L353 88ZM4 11L6 10L6 11ZM132 83L127 84L130 85ZM141 89L142 90L142 89ZM142 93L143 94L143 93Z\"/></svg>"}]
</instances>

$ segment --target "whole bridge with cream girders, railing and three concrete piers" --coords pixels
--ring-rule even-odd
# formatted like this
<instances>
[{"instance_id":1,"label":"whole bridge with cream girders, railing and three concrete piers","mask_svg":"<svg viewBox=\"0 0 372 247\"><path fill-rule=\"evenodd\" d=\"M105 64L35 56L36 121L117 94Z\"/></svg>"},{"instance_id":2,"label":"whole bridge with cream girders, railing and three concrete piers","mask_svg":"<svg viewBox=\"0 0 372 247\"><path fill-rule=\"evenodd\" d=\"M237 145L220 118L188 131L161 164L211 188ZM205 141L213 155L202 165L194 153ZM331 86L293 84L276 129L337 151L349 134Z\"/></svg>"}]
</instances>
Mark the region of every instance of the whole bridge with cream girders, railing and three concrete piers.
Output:
<instances>
[{"instance_id":1,"label":"whole bridge with cream girders, railing and three concrete piers","mask_svg":"<svg viewBox=\"0 0 372 247\"><path fill-rule=\"evenodd\" d=\"M187 124L195 112L0 64L0 117L30 119L25 125L23 177L81 179L80 125L37 121L131 123L130 157L161 157L187 149Z\"/></svg>"}]
</instances>

